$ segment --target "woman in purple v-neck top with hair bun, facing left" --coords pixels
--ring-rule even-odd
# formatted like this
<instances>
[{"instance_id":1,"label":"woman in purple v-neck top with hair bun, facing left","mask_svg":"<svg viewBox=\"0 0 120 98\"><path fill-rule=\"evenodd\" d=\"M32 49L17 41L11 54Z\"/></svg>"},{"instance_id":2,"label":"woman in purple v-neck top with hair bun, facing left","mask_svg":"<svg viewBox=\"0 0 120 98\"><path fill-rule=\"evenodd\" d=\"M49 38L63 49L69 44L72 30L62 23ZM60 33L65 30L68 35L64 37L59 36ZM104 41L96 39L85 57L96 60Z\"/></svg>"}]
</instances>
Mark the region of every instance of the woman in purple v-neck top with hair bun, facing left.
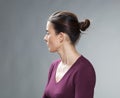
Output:
<instances>
[{"instance_id":1,"label":"woman in purple v-neck top with hair bun, facing left","mask_svg":"<svg viewBox=\"0 0 120 98\"><path fill-rule=\"evenodd\" d=\"M43 98L93 98L94 68L75 48L81 31L89 25L88 19L79 22L75 14L67 11L49 17L44 40L49 51L57 52L61 59L51 64Z\"/></svg>"}]
</instances>

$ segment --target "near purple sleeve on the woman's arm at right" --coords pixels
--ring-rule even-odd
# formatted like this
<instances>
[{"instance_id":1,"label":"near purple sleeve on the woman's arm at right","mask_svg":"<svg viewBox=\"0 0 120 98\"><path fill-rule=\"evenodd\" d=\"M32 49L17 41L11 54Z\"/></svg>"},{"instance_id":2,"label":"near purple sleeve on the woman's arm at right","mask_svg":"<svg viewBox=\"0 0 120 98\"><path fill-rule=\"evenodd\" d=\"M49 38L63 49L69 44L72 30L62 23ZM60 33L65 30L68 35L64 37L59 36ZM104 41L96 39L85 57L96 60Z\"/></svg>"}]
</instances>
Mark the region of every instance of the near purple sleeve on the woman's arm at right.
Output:
<instances>
[{"instance_id":1,"label":"near purple sleeve on the woman's arm at right","mask_svg":"<svg viewBox=\"0 0 120 98\"><path fill-rule=\"evenodd\" d=\"M95 71L93 68L82 68L74 79L75 98L93 98L95 86Z\"/></svg>"}]
</instances>

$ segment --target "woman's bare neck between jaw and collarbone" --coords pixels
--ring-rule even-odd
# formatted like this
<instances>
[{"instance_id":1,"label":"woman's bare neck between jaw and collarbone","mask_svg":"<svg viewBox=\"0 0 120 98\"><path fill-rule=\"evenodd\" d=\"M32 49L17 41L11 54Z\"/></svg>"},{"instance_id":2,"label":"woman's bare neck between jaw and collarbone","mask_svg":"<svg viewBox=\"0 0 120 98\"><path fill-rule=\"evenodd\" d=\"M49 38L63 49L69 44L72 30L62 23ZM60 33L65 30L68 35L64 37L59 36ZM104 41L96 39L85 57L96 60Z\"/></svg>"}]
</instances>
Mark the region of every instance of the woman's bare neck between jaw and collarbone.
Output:
<instances>
[{"instance_id":1,"label":"woman's bare neck between jaw and collarbone","mask_svg":"<svg viewBox=\"0 0 120 98\"><path fill-rule=\"evenodd\" d=\"M73 63L80 57L75 46L70 44L60 47L57 52L61 57L62 63L65 65L73 65Z\"/></svg>"}]
</instances>

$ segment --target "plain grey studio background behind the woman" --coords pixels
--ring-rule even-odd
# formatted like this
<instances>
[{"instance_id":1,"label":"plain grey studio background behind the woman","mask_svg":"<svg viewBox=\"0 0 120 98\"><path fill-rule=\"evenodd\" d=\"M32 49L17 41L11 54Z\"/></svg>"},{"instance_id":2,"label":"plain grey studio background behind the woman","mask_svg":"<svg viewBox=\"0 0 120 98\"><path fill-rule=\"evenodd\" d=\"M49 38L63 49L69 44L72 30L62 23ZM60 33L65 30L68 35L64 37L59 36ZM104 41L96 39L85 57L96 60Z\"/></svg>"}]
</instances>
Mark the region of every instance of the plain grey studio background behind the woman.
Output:
<instances>
[{"instance_id":1,"label":"plain grey studio background behind the woman","mask_svg":"<svg viewBox=\"0 0 120 98\"><path fill-rule=\"evenodd\" d=\"M0 0L0 98L41 98L51 62L43 37L57 10L89 18L77 49L96 70L94 98L120 98L119 0Z\"/></svg>"}]
</instances>

